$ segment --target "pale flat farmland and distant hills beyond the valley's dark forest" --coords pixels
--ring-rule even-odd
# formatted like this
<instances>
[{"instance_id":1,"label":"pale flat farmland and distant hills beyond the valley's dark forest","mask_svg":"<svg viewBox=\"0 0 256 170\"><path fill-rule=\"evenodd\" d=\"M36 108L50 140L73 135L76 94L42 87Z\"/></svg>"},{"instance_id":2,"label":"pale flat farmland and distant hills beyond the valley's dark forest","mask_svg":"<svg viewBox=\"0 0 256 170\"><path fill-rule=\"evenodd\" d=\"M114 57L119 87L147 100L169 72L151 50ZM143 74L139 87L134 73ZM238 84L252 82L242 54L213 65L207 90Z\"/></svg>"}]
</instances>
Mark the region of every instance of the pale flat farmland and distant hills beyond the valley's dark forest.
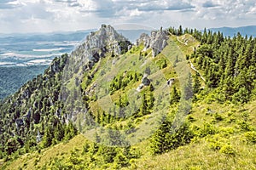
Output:
<instances>
[{"instance_id":1,"label":"pale flat farmland and distant hills beyond the valley's dark forest","mask_svg":"<svg viewBox=\"0 0 256 170\"><path fill-rule=\"evenodd\" d=\"M49 65L69 53L90 31L0 36L0 66Z\"/></svg>"}]
</instances>

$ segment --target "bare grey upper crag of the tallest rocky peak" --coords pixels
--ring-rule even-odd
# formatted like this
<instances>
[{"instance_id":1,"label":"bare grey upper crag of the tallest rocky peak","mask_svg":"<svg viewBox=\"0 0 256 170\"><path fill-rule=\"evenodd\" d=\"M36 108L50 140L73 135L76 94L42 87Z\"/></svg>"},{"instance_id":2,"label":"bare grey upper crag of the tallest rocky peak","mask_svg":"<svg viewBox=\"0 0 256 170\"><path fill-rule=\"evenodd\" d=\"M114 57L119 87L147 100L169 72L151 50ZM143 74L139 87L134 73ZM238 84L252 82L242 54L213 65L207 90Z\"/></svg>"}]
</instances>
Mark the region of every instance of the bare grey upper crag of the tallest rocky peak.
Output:
<instances>
[{"instance_id":1,"label":"bare grey upper crag of the tallest rocky peak","mask_svg":"<svg viewBox=\"0 0 256 170\"><path fill-rule=\"evenodd\" d=\"M73 51L71 57L79 60L78 65L88 63L87 66L90 68L107 52L119 55L127 51L129 45L131 42L115 31L112 26L102 25L99 31L90 32L85 42Z\"/></svg>"}]
</instances>

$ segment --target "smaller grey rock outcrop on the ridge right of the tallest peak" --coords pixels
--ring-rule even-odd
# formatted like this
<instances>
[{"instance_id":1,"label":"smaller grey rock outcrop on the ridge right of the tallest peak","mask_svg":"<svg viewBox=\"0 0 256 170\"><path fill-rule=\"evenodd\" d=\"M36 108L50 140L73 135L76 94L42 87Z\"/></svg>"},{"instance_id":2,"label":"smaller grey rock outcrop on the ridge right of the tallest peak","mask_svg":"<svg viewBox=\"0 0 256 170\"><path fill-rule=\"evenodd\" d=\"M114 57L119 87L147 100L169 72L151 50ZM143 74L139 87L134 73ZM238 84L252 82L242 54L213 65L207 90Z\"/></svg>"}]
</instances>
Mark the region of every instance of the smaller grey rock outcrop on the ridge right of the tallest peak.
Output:
<instances>
[{"instance_id":1,"label":"smaller grey rock outcrop on the ridge right of the tallest peak","mask_svg":"<svg viewBox=\"0 0 256 170\"><path fill-rule=\"evenodd\" d=\"M150 37L148 34L143 33L139 39L137 39L137 45L143 43L145 46L144 50L148 48L152 49L152 55L155 57L157 54L163 50L167 45L168 33L163 31L162 28L160 31L152 31Z\"/></svg>"}]
</instances>

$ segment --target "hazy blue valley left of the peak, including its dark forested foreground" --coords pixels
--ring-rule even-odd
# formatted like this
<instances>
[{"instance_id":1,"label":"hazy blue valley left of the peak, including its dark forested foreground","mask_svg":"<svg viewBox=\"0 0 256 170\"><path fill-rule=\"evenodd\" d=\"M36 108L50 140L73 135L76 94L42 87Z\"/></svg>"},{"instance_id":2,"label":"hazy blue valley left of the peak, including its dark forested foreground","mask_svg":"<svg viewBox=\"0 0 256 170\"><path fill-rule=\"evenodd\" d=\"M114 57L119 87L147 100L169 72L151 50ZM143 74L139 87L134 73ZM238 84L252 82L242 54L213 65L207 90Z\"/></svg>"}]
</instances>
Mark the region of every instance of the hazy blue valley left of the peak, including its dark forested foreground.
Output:
<instances>
[{"instance_id":1,"label":"hazy blue valley left of the peak, including its dark forested foreground","mask_svg":"<svg viewBox=\"0 0 256 170\"><path fill-rule=\"evenodd\" d=\"M0 35L0 99L44 73L52 59L72 51L88 33Z\"/></svg>"}]
</instances>

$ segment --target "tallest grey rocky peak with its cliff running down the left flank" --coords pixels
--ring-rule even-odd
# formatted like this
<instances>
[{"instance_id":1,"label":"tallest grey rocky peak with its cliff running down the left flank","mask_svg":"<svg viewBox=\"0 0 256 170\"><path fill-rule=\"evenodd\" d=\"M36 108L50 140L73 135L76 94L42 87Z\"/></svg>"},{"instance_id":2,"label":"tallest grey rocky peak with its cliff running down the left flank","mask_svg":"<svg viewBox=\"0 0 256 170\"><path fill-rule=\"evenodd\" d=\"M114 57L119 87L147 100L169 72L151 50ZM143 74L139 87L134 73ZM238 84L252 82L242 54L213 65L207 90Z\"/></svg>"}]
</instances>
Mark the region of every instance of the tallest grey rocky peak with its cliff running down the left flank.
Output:
<instances>
[{"instance_id":1,"label":"tallest grey rocky peak with its cliff running down the left flank","mask_svg":"<svg viewBox=\"0 0 256 170\"><path fill-rule=\"evenodd\" d=\"M125 54L129 46L131 46L131 42L115 31L110 25L102 25L98 31L90 32L90 35L85 38L84 43L76 48L67 59L67 64L63 71L61 88L61 99L66 102L65 105L72 103L72 101L67 98L73 91L77 91L79 98L82 98L79 84L84 79L84 72L91 71L92 67L97 62L100 62L107 54L111 54L112 56ZM97 69L95 71L97 71ZM94 72L91 72L88 78L92 79L93 77ZM73 78L75 78L75 83L70 84L69 82ZM93 89L91 89L91 91L92 90ZM83 105L80 107L84 108ZM67 116L67 120L75 120L76 115L79 114L79 111L74 111L73 107L70 107L67 111L70 113Z\"/></svg>"}]
</instances>

